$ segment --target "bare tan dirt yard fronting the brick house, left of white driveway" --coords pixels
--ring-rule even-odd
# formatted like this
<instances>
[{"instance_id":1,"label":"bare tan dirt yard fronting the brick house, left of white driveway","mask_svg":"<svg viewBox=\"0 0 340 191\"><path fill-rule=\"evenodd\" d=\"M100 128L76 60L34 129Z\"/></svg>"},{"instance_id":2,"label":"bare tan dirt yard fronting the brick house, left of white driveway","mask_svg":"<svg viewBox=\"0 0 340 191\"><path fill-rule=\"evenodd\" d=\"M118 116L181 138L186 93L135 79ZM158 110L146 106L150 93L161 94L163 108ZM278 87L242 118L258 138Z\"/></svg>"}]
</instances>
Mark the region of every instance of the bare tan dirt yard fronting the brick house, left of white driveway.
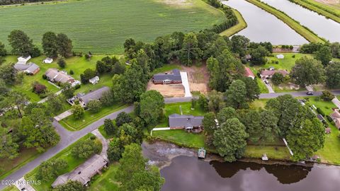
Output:
<instances>
[{"instance_id":1,"label":"bare tan dirt yard fronting the brick house, left of white driveway","mask_svg":"<svg viewBox=\"0 0 340 191\"><path fill-rule=\"evenodd\" d=\"M164 98L171 98L171 97L184 97L184 87L182 84L154 84L152 81L147 83L147 90L155 90L164 96Z\"/></svg>"}]
</instances>

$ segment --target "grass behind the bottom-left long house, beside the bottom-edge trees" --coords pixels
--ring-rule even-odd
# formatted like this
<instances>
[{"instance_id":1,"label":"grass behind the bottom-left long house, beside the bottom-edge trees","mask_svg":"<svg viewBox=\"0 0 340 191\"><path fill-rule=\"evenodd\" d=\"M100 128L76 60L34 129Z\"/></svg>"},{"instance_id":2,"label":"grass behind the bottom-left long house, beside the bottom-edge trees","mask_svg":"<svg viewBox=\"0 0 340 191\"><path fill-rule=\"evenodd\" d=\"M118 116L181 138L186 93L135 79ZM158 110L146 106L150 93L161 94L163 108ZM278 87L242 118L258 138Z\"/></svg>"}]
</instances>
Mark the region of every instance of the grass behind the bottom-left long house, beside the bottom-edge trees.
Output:
<instances>
[{"instance_id":1,"label":"grass behind the bottom-left long house, beside the bottom-edge trees","mask_svg":"<svg viewBox=\"0 0 340 191\"><path fill-rule=\"evenodd\" d=\"M116 191L118 190L118 183L115 180L115 173L118 170L118 164L114 163L103 172L102 175L95 177L95 180L91 182L89 191Z\"/></svg>"}]
</instances>

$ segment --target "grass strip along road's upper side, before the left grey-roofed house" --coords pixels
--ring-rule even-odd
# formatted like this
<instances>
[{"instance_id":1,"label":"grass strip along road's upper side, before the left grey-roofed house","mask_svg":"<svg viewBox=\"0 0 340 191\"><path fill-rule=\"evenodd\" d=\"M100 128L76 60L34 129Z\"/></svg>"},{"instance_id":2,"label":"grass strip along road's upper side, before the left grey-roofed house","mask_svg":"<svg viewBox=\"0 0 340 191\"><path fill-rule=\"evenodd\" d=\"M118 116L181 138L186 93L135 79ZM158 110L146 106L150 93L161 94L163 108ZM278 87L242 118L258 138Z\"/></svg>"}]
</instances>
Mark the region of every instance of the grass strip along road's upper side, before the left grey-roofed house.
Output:
<instances>
[{"instance_id":1,"label":"grass strip along road's upper side, before the left grey-roofed house","mask_svg":"<svg viewBox=\"0 0 340 191\"><path fill-rule=\"evenodd\" d=\"M86 110L81 119L76 120L73 115L71 115L64 120L61 120L60 124L70 131L78 131L87 125L90 125L92 122L101 119L101 117L105 117L106 115L126 108L127 106L128 105L124 105L123 103L116 103L110 107L101 108L101 110L97 113L91 113L89 110Z\"/></svg>"}]
</instances>

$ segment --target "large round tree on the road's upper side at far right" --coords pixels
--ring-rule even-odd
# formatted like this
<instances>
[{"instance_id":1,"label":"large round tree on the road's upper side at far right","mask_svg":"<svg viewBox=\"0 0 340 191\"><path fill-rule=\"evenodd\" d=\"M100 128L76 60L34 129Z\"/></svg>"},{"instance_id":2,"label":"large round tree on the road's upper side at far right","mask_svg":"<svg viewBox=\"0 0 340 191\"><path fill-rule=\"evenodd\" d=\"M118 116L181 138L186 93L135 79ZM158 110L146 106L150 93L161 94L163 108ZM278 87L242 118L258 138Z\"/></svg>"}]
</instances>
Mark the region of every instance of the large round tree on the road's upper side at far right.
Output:
<instances>
[{"instance_id":1,"label":"large round tree on the road's upper side at far right","mask_svg":"<svg viewBox=\"0 0 340 191\"><path fill-rule=\"evenodd\" d=\"M322 83L325 79L324 68L321 62L317 60L302 57L295 62L290 77L297 85L302 87Z\"/></svg>"}]
</instances>

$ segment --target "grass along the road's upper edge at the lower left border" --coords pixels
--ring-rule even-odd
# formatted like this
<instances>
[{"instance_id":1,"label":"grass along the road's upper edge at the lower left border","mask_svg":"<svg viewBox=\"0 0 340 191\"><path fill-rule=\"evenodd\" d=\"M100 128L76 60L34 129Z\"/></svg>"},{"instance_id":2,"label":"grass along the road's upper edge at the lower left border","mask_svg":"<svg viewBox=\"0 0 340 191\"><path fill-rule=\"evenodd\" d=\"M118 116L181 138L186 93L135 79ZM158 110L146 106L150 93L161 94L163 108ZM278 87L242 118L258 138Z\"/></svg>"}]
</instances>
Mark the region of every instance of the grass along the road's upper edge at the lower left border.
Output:
<instances>
[{"instance_id":1,"label":"grass along the road's upper edge at the lower left border","mask_svg":"<svg viewBox=\"0 0 340 191\"><path fill-rule=\"evenodd\" d=\"M34 148L22 148L17 158L14 158L12 160L8 158L1 158L0 168L4 169L4 173L0 174L0 180L5 178L7 175L10 175L11 173L14 173L16 170L26 165L30 161L33 161L38 156L40 156L40 154Z\"/></svg>"}]
</instances>

